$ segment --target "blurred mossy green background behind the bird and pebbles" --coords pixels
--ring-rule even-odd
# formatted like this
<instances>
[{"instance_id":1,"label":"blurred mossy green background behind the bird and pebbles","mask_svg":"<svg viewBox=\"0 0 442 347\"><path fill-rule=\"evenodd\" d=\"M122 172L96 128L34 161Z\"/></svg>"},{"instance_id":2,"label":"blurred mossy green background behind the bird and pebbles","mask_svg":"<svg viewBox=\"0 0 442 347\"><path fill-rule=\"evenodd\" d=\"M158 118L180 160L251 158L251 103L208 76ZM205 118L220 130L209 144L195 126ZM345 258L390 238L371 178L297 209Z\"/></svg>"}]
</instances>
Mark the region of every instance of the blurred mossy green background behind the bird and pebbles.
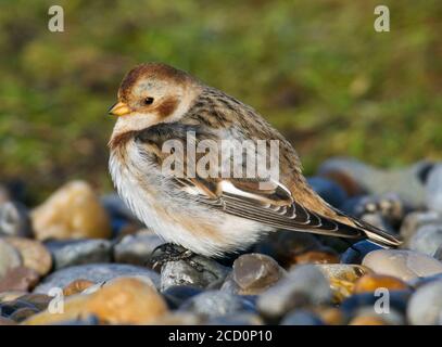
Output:
<instances>
[{"instance_id":1,"label":"blurred mossy green background behind the bird and pebbles","mask_svg":"<svg viewBox=\"0 0 442 347\"><path fill-rule=\"evenodd\" d=\"M390 8L376 33L374 9ZM161 61L253 105L307 174L332 155L396 167L442 153L442 1L0 1L0 181L112 188L106 116ZM65 31L48 30L64 8Z\"/></svg>"}]
</instances>

